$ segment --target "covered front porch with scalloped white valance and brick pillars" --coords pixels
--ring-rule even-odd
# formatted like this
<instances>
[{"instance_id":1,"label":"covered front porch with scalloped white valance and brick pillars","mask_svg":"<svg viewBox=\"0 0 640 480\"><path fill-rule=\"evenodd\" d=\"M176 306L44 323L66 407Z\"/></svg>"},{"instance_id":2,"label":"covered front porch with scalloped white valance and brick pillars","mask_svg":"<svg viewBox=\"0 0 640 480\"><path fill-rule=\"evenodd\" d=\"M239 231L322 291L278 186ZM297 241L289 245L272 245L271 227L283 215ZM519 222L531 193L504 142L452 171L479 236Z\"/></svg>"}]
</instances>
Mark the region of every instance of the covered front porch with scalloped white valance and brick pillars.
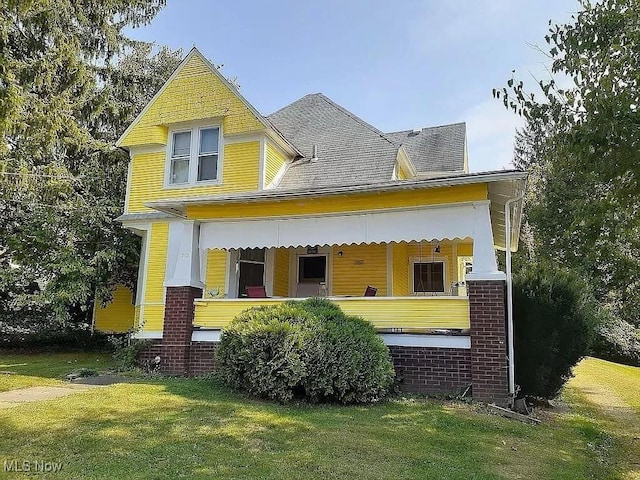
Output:
<instances>
[{"instance_id":1,"label":"covered front porch with scalloped white valance and brick pillars","mask_svg":"<svg viewBox=\"0 0 640 480\"><path fill-rule=\"evenodd\" d=\"M489 184L470 176L389 191L149 203L173 215L163 285L166 371L212 368L211 349L242 310L323 296L375 326L410 390L473 383L474 397L503 402L511 391L507 296L496 249L517 245L521 203L513 202L522 184L519 176L491 176ZM199 351L209 363L194 360Z\"/></svg>"}]
</instances>

